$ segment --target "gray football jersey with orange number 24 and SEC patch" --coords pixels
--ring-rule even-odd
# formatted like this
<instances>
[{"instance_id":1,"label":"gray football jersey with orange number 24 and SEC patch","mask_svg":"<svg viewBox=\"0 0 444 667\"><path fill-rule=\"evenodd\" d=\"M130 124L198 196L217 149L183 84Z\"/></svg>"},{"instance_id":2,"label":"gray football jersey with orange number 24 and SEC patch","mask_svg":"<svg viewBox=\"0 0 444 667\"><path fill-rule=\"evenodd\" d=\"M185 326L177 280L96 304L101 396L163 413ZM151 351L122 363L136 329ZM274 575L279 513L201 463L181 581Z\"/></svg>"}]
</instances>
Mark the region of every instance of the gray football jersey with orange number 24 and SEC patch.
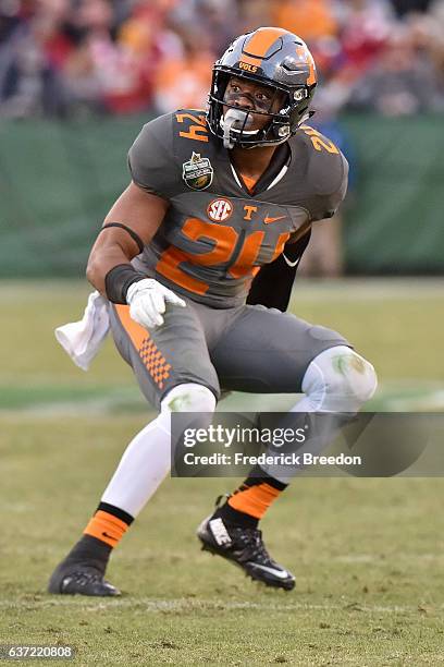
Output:
<instances>
[{"instance_id":1,"label":"gray football jersey with orange number 24 and SEC patch","mask_svg":"<svg viewBox=\"0 0 444 667\"><path fill-rule=\"evenodd\" d=\"M291 234L331 217L345 196L347 161L331 141L303 125L288 147L284 175L249 194L203 112L184 109L147 123L130 149L130 170L170 207L133 265L212 307L244 303L257 271Z\"/></svg>"}]
</instances>

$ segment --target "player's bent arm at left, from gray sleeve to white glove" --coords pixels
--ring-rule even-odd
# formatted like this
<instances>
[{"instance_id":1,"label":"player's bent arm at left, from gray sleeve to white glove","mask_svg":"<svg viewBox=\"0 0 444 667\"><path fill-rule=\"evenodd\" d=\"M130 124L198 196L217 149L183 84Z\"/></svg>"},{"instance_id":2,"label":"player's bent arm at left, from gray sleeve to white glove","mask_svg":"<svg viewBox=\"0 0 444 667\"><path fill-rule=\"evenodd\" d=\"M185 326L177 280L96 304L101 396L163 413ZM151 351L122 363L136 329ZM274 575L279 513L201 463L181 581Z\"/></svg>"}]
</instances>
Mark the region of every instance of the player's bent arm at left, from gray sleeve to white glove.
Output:
<instances>
[{"instance_id":1,"label":"player's bent arm at left, from gray sleeve to white glove","mask_svg":"<svg viewBox=\"0 0 444 667\"><path fill-rule=\"evenodd\" d=\"M186 305L131 264L155 237L177 190L171 114L144 125L130 149L128 167L133 182L104 219L86 275L101 294L113 303L128 304L131 317L151 328L163 324L166 303Z\"/></svg>"}]
</instances>

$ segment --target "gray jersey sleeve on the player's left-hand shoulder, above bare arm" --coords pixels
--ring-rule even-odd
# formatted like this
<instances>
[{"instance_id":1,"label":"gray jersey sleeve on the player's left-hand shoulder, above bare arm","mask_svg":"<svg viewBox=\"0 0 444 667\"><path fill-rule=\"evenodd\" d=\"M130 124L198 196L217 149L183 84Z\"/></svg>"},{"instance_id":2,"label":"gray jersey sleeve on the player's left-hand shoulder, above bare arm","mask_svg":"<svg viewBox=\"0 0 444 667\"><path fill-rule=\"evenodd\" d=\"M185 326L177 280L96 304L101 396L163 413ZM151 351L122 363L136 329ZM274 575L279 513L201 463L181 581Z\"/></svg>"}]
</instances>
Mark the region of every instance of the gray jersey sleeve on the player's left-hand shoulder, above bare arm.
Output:
<instances>
[{"instance_id":1,"label":"gray jersey sleeve on the player's left-hand shoulder, above bare arm","mask_svg":"<svg viewBox=\"0 0 444 667\"><path fill-rule=\"evenodd\" d=\"M161 116L141 129L130 148L133 181L149 193L169 199L181 189L181 173L173 151L172 116Z\"/></svg>"}]
</instances>

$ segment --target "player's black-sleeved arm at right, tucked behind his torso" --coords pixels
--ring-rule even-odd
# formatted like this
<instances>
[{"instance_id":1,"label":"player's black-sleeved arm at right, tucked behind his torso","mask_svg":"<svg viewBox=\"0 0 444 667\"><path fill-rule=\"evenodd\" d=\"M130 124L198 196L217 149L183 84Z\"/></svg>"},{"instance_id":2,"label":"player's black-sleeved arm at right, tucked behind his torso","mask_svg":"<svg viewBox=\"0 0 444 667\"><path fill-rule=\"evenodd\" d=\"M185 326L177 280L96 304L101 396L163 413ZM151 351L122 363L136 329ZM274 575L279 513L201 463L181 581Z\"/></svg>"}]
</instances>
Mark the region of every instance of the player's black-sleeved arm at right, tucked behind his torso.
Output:
<instances>
[{"instance_id":1,"label":"player's black-sleeved arm at right, tucked behind his torso","mask_svg":"<svg viewBox=\"0 0 444 667\"><path fill-rule=\"evenodd\" d=\"M328 187L331 192L319 193L313 198L309 208L310 219L313 222L332 218L347 192L348 163L345 157L342 154L340 155L338 178L336 177L335 179L336 183L333 184L333 190ZM278 308L283 313L287 310L297 267L309 244L310 238L311 229L296 243L287 243L284 252L274 262L261 267L251 282L247 298L248 304L261 304L268 308ZM285 260L284 255L292 266Z\"/></svg>"}]
</instances>

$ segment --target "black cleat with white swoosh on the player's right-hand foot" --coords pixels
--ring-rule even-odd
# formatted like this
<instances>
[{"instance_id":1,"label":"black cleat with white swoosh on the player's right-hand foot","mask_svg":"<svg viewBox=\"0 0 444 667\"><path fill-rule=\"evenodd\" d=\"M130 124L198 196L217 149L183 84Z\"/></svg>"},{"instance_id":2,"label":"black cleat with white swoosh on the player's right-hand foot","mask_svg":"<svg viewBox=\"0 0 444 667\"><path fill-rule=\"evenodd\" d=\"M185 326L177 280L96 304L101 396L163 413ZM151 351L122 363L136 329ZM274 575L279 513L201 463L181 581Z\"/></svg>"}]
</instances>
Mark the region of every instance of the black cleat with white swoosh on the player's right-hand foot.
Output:
<instances>
[{"instance_id":1,"label":"black cleat with white swoosh on the player's right-hand foot","mask_svg":"<svg viewBox=\"0 0 444 667\"><path fill-rule=\"evenodd\" d=\"M252 580L285 591L295 587L294 575L270 558L258 529L230 525L211 516L199 525L197 536L202 550L231 560Z\"/></svg>"}]
</instances>

